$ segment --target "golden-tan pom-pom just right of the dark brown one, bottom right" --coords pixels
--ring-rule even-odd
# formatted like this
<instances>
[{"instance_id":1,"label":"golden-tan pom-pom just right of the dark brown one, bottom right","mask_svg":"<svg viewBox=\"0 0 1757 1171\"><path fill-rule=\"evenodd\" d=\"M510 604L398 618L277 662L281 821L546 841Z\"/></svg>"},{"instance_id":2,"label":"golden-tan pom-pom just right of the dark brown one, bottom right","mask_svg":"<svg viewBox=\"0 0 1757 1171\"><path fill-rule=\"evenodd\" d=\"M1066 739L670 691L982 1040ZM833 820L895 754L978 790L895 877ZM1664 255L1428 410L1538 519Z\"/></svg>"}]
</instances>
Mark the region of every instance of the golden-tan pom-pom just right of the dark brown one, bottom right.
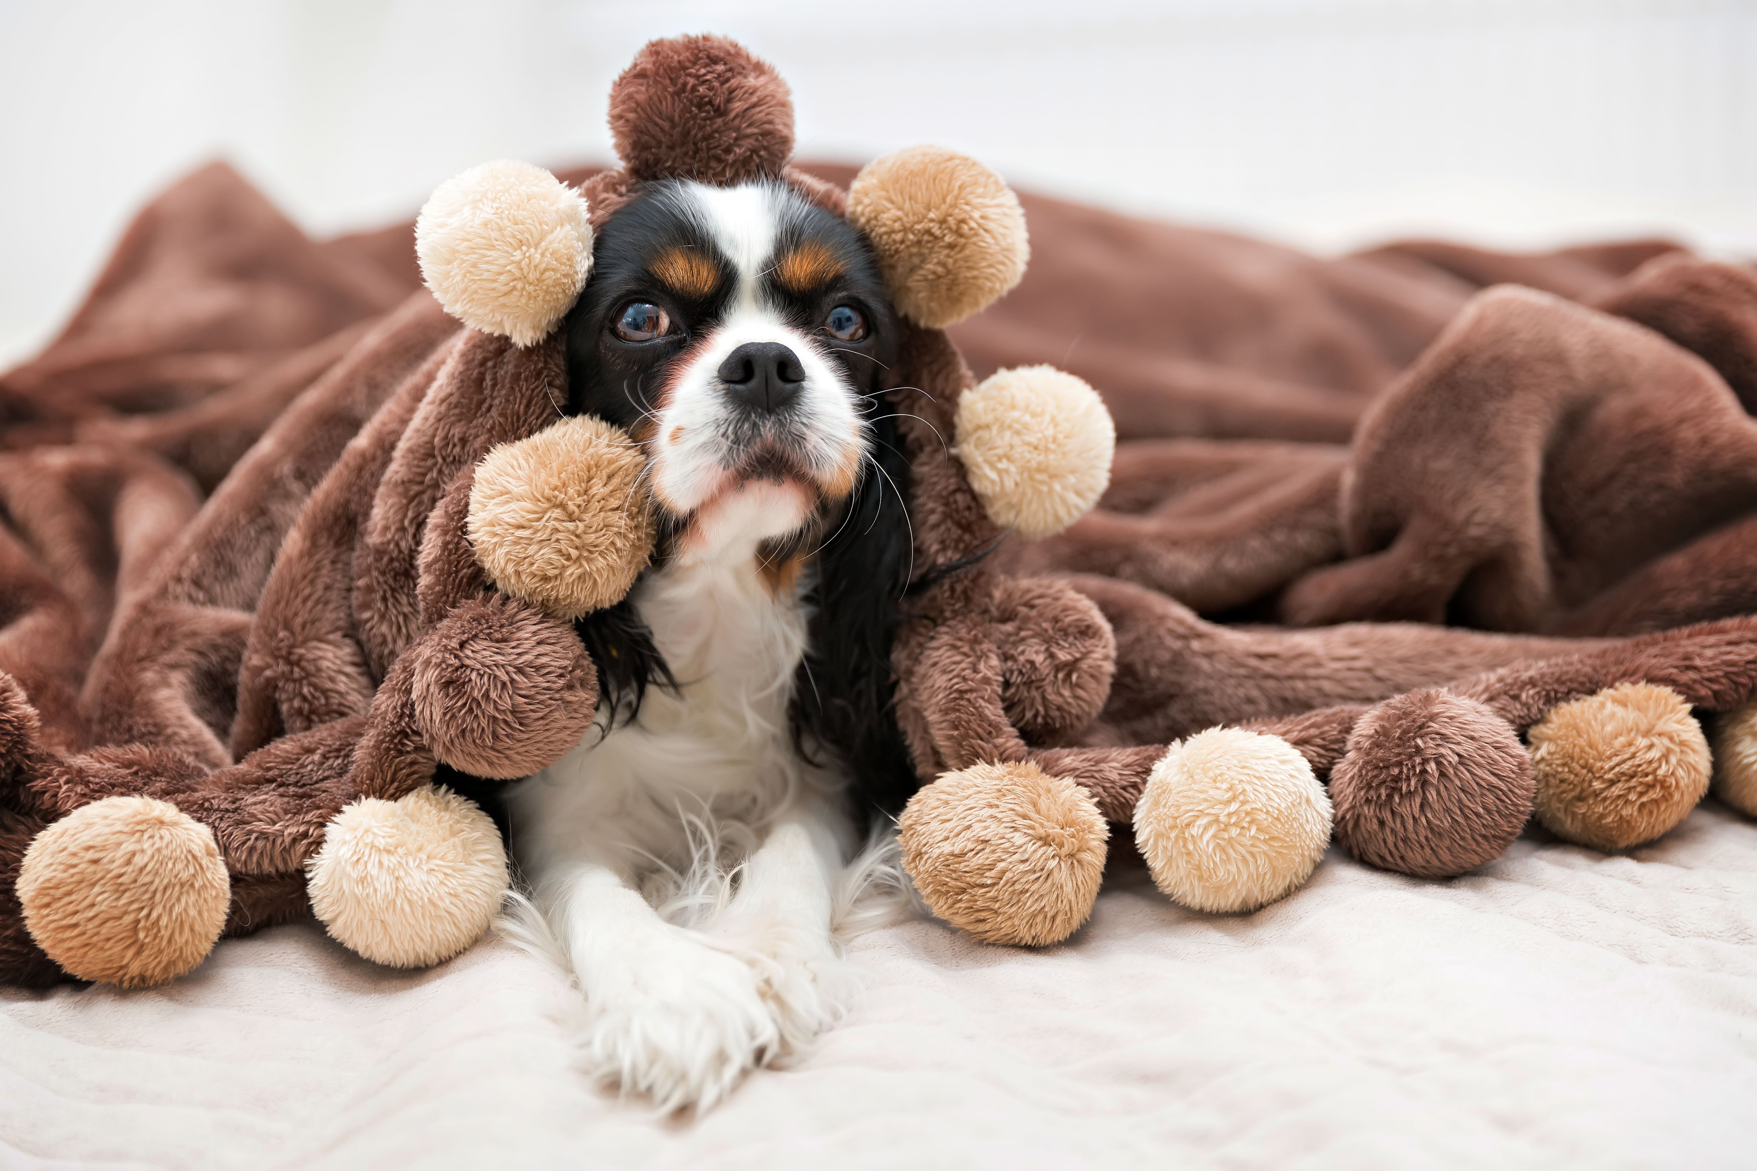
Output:
<instances>
[{"instance_id":1,"label":"golden-tan pom-pom just right of the dark brown one, bottom right","mask_svg":"<svg viewBox=\"0 0 1757 1171\"><path fill-rule=\"evenodd\" d=\"M1669 686L1620 683L1560 704L1525 739L1537 820L1594 850L1653 841L1708 795L1708 737Z\"/></svg>"}]
</instances>

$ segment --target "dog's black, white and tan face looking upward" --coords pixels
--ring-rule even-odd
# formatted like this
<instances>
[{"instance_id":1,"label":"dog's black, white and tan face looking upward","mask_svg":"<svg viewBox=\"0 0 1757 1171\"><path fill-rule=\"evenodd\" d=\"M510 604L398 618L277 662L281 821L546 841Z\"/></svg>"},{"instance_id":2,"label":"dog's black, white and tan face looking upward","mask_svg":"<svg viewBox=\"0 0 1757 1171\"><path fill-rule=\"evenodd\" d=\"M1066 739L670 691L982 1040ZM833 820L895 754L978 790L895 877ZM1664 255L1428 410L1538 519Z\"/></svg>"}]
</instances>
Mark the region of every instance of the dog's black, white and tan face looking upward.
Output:
<instances>
[{"instance_id":1,"label":"dog's black, white and tan face looking upward","mask_svg":"<svg viewBox=\"0 0 1757 1171\"><path fill-rule=\"evenodd\" d=\"M573 409L645 446L680 557L821 532L896 348L864 241L778 183L650 184L597 233L566 332Z\"/></svg>"}]
</instances>

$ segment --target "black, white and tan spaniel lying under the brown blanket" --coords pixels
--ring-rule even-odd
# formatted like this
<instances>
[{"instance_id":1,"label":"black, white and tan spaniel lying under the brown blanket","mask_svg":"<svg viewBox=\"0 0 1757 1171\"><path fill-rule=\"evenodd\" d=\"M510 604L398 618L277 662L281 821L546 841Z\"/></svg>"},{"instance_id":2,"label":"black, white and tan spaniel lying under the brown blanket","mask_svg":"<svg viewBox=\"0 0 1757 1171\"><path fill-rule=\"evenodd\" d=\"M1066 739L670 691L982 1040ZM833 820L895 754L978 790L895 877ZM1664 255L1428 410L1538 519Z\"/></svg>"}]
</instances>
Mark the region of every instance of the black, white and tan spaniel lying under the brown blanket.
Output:
<instances>
[{"instance_id":1,"label":"black, white and tan spaniel lying under the brown blanket","mask_svg":"<svg viewBox=\"0 0 1757 1171\"><path fill-rule=\"evenodd\" d=\"M576 623L594 729L508 794L525 927L583 992L585 1062L705 1110L836 1020L836 920L886 871L859 823L914 779L900 327L842 216L778 181L662 181L603 225L562 328L569 409L641 446L661 541Z\"/></svg>"}]
</instances>

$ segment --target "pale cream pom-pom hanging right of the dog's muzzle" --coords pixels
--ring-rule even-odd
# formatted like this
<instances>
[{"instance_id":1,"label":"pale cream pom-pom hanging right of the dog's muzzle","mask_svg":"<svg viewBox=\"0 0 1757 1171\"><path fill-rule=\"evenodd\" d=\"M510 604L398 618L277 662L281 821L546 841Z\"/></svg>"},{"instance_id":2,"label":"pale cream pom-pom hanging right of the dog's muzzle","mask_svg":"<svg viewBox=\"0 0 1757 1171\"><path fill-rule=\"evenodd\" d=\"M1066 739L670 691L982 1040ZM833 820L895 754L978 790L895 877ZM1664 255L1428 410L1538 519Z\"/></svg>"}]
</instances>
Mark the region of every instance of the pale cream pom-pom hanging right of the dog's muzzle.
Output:
<instances>
[{"instance_id":1,"label":"pale cream pom-pom hanging right of the dog's muzzle","mask_svg":"<svg viewBox=\"0 0 1757 1171\"><path fill-rule=\"evenodd\" d=\"M987 514L1035 541L1110 486L1116 425L1091 386L1049 365L1000 370L958 400L958 458Z\"/></svg>"}]
</instances>

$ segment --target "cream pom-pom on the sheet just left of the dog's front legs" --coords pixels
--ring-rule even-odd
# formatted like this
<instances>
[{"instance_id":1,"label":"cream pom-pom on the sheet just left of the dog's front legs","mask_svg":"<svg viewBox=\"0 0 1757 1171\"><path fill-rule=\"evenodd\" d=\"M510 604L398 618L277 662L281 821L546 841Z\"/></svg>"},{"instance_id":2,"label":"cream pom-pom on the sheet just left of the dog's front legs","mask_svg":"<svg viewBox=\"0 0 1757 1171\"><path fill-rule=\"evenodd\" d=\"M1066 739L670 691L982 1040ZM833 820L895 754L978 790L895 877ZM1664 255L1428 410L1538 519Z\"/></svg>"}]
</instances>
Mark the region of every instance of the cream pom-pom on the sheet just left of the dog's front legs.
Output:
<instances>
[{"instance_id":1,"label":"cream pom-pom on the sheet just left of the dog's front legs","mask_svg":"<svg viewBox=\"0 0 1757 1171\"><path fill-rule=\"evenodd\" d=\"M390 967L452 959L481 938L506 894L501 832L441 787L353 802L330 818L306 867L311 909L330 936Z\"/></svg>"}]
</instances>

